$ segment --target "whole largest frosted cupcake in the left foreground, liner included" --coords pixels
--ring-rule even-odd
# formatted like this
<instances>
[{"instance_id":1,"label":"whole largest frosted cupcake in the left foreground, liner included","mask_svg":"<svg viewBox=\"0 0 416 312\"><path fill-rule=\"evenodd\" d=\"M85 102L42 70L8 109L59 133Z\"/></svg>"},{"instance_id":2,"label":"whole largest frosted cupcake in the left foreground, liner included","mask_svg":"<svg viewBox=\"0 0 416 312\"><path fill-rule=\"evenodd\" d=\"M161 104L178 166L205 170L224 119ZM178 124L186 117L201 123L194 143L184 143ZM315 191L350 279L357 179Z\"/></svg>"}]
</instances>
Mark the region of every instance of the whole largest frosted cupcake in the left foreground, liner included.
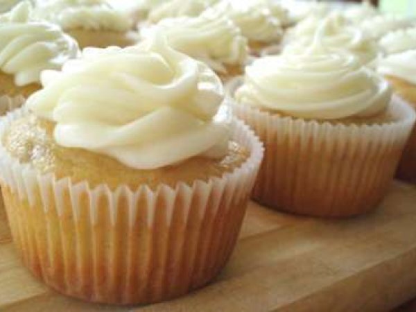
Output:
<instances>
[{"instance_id":1,"label":"whole largest frosted cupcake in the left foreground, liner included","mask_svg":"<svg viewBox=\"0 0 416 312\"><path fill-rule=\"evenodd\" d=\"M13 239L60 293L159 302L232 252L262 146L229 118L218 76L163 39L85 49L0 123Z\"/></svg>"}]
</instances>

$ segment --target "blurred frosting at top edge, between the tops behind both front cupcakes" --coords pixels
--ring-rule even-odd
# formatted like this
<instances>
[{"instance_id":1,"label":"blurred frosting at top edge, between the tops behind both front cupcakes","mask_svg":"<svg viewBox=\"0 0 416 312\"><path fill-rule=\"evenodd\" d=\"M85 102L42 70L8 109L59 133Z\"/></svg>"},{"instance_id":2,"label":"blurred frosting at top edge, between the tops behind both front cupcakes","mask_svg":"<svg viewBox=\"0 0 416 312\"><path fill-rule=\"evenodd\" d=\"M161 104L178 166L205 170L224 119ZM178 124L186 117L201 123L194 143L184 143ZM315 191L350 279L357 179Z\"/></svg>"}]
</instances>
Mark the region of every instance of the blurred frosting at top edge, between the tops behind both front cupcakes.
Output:
<instances>
[{"instance_id":1,"label":"blurred frosting at top edge, between the tops behind both front cupcakes","mask_svg":"<svg viewBox=\"0 0 416 312\"><path fill-rule=\"evenodd\" d=\"M253 42L279 42L283 35L279 18L261 1L223 0L212 10L229 17Z\"/></svg>"}]
</instances>

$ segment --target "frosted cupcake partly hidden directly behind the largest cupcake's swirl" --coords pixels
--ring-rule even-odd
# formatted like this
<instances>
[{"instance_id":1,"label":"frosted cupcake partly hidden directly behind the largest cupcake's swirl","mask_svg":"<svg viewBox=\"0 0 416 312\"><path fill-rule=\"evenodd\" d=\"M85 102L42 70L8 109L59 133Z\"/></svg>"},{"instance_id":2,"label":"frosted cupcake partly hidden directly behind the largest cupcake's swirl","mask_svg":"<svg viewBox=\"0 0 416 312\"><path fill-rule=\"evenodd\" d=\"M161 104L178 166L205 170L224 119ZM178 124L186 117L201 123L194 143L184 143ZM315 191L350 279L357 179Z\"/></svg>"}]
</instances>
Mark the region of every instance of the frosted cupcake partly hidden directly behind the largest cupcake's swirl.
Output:
<instances>
[{"instance_id":1,"label":"frosted cupcake partly hidden directly behind the largest cupcake's swirl","mask_svg":"<svg viewBox=\"0 0 416 312\"><path fill-rule=\"evenodd\" d=\"M208 10L199 17L163 19L156 26L141 31L141 35L146 38L156 31L163 31L174 49L205 62L223 80L244 71L247 40L227 17Z\"/></svg>"}]
</instances>

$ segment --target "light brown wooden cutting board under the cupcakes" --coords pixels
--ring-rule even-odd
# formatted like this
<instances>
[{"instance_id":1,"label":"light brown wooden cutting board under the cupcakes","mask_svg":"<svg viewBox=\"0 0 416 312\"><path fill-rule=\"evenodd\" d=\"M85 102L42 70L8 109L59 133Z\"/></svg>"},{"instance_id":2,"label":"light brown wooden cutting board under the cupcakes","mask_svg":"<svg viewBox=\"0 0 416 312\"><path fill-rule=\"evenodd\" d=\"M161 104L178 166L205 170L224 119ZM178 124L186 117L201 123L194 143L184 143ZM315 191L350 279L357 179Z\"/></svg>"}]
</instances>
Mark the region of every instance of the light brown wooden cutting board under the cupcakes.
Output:
<instances>
[{"instance_id":1,"label":"light brown wooden cutting board under the cupcakes","mask_svg":"<svg viewBox=\"0 0 416 312\"><path fill-rule=\"evenodd\" d=\"M251 203L228 266L210 286L144 307L88 304L31 277L0 207L0 311L389 311L416 296L416 187L395 182L378 211L319 220Z\"/></svg>"}]
</instances>

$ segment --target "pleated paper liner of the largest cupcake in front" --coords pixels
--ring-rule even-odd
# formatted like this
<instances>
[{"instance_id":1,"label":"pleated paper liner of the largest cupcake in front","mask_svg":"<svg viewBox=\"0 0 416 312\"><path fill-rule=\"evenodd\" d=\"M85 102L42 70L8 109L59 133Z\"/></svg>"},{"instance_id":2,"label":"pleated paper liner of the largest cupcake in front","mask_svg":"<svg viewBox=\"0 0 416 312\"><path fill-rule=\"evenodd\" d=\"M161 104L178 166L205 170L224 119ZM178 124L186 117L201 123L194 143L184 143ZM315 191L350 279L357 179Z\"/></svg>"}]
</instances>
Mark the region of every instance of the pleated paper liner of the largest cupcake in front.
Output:
<instances>
[{"instance_id":1,"label":"pleated paper liner of the largest cupcake in front","mask_svg":"<svg viewBox=\"0 0 416 312\"><path fill-rule=\"evenodd\" d=\"M0 137L21 114L3 119ZM204 286L232 253L263 157L241 121L232 138L250 150L232 173L136 191L40 175L0 146L1 189L24 263L60 293L92 302L146 304Z\"/></svg>"}]
</instances>

